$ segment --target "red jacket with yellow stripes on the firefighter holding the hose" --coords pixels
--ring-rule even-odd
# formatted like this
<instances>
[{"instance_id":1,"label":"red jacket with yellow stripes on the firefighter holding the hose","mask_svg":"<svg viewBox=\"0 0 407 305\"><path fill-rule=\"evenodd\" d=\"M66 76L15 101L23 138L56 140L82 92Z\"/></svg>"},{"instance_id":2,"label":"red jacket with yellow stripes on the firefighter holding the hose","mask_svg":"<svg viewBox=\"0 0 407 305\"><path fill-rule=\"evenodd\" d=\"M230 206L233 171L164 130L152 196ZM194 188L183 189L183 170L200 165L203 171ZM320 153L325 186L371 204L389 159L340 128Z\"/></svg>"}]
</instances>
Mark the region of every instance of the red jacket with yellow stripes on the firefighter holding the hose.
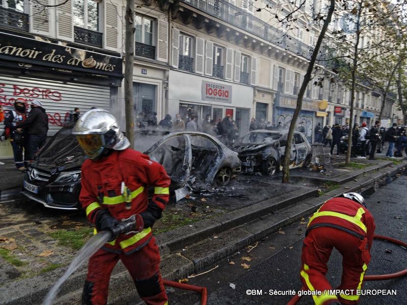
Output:
<instances>
[{"instance_id":1,"label":"red jacket with yellow stripes on the firefighter holding the hose","mask_svg":"<svg viewBox=\"0 0 407 305\"><path fill-rule=\"evenodd\" d=\"M148 186L155 187L150 204L163 210L168 202L171 180L165 169L151 161L149 156L130 148L114 150L110 156L98 161L86 160L81 174L79 200L86 216L93 223L97 212L102 208L107 208L112 217L119 221L146 211L149 205ZM129 209L121 195L122 181L131 191ZM104 249L130 254L147 245L151 237L151 228L137 234L122 234L106 243Z\"/></svg>"}]
</instances>

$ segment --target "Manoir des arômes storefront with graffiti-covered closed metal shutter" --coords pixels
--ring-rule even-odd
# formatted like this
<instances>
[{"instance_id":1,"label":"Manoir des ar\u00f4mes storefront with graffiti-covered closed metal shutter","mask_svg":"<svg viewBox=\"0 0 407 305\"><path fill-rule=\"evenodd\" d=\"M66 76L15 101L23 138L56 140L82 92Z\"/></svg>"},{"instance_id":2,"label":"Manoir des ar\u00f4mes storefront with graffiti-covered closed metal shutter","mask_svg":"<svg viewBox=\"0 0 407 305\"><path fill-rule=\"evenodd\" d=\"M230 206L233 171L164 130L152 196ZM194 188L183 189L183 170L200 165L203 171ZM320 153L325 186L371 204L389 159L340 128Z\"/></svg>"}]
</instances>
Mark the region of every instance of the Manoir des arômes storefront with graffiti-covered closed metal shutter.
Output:
<instances>
[{"instance_id":1,"label":"Manoir des ar\u00f4mes storefront with graffiti-covered closed metal shutter","mask_svg":"<svg viewBox=\"0 0 407 305\"><path fill-rule=\"evenodd\" d=\"M69 122L75 107L83 113L117 105L122 58L0 33L0 75L3 109L14 109L15 101L28 107L41 101L51 136Z\"/></svg>"}]
</instances>

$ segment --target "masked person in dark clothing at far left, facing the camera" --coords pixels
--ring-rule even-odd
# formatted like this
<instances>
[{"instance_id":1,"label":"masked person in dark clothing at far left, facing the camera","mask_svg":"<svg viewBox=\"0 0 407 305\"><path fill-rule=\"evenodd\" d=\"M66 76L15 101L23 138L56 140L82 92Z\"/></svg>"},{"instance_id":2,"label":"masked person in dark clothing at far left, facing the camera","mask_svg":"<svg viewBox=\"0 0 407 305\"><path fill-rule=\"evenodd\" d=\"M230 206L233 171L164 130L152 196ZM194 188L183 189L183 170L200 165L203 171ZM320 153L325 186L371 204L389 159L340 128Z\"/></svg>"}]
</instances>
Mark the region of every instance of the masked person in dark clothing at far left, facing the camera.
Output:
<instances>
[{"instance_id":1,"label":"masked person in dark clothing at far left, facing the camera","mask_svg":"<svg viewBox=\"0 0 407 305\"><path fill-rule=\"evenodd\" d=\"M23 131L17 132L17 124L25 120L25 103L22 101L14 102L14 109L10 110L4 119L6 126L5 138L10 139L13 148L14 164L20 171L24 171L28 165L29 155L27 152L27 135Z\"/></svg>"}]
</instances>

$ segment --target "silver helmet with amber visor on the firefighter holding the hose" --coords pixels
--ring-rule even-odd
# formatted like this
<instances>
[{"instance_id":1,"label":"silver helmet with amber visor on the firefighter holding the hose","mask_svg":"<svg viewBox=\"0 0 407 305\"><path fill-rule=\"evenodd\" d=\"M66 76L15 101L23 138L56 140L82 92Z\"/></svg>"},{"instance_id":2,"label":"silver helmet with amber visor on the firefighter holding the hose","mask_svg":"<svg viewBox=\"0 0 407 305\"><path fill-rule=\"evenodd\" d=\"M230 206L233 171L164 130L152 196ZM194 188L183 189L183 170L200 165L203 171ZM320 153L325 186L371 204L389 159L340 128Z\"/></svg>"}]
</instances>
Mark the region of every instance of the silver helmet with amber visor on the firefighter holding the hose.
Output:
<instances>
[{"instance_id":1,"label":"silver helmet with amber visor on the firefighter holding the hose","mask_svg":"<svg viewBox=\"0 0 407 305\"><path fill-rule=\"evenodd\" d=\"M91 109L79 117L72 130L79 145L91 160L99 158L104 148L124 150L129 140L120 131L117 119L105 109Z\"/></svg>"}]
</instances>

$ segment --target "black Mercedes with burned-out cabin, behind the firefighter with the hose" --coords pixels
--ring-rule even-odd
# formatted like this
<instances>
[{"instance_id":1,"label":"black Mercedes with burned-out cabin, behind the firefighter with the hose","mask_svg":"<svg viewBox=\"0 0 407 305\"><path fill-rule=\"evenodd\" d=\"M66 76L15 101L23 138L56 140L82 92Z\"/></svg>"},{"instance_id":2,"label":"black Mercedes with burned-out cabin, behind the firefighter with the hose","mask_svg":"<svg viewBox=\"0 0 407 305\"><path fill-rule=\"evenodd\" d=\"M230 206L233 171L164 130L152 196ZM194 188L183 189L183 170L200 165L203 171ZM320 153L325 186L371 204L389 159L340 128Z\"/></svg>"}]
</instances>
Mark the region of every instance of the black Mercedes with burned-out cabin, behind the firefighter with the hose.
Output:
<instances>
[{"instance_id":1,"label":"black Mercedes with burned-out cabin, behind the firefighter with the hose","mask_svg":"<svg viewBox=\"0 0 407 305\"><path fill-rule=\"evenodd\" d=\"M27 167L22 194L46 207L81 208L80 169L86 155L71 134L73 127L69 124L57 132ZM205 184L226 185L240 169L238 154L204 133L140 130L134 142L135 149L147 150L144 154L164 166L172 191L192 175Z\"/></svg>"}]
</instances>

